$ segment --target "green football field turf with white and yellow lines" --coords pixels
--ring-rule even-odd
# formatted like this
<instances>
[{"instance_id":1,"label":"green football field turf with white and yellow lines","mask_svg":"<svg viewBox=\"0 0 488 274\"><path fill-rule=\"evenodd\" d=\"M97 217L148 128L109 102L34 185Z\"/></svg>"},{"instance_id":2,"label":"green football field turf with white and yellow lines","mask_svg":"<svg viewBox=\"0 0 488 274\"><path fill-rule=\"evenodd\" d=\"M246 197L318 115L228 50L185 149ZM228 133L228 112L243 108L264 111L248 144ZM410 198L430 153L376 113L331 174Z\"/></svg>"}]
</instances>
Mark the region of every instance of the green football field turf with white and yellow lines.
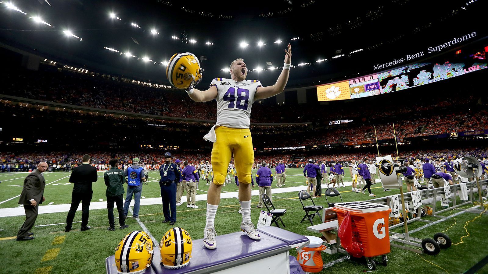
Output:
<instances>
[{"instance_id":1,"label":"green football field turf with white and yellow lines","mask_svg":"<svg viewBox=\"0 0 488 274\"><path fill-rule=\"evenodd\" d=\"M253 170L255 174L255 170ZM17 210L19 206L18 195L22 190L23 178L26 173L16 174L0 174L0 211L12 208ZM44 195L46 201L43 205L61 205L69 204L71 200L71 190L73 184L70 184L69 173L45 173L46 187ZM142 199L158 198L160 197L160 188L157 180L160 178L158 172L150 172L148 185L143 186ZM350 181L348 170L344 181ZM306 189L305 177L303 176L303 169L287 169L287 178L285 188L280 189L282 193L273 194L273 203L277 208L284 208L287 210L285 216L282 217L285 222L286 229L301 235L316 235L306 230L310 226L310 222L300 222L304 216L304 211L297 198L298 191L296 188L293 191L290 189L286 192L286 188L302 186ZM208 186L202 180L197 195L206 194ZM256 190L257 187L254 188ZM344 201L368 200L368 195L356 194L351 192L351 188L338 189ZM406 187L404 187L406 191ZM93 199L92 203L106 201L105 185L103 183L102 172L99 173L99 180L93 183ZM237 196L237 187L235 184L230 184L223 188L226 192L235 192ZM323 190L325 191L325 190ZM392 190L391 192L384 192L381 184L373 185L373 193L380 196L387 196L398 194L399 190ZM333 198L334 199L334 198ZM338 198L334 199L337 201ZM316 204L326 205L325 197L314 199ZM254 223L258 219L260 210L256 208L258 203L258 196L252 196L251 218ZM200 207L198 209L187 208L185 204L178 207L177 223L176 225L184 228L194 238L203 237L203 227L205 224L206 201L200 200L196 202ZM238 214L239 201L235 197L224 198L221 200L221 205L218 209L215 224L216 231L219 235L234 233L239 231L241 223L241 215ZM9 210L6 210L9 211ZM115 210L116 212L116 210ZM454 210L452 214L459 212ZM128 229L114 232L107 231L107 211L106 209L90 210L90 218L88 225L92 226L89 231L81 232L80 221L81 211L78 211L75 216L73 230L69 233L64 233L64 226L67 212L40 214L36 221L36 226L32 232L35 233L35 239L31 241L17 242L15 236L22 225L25 217L9 216L0 217L0 263L3 265L3 270L0 273L16 274L16 273L105 273L105 258L114 254L114 248L124 235L133 230L142 230L137 220L128 218L126 223L129 225ZM129 214L130 215L130 214ZM443 215L450 215L446 212ZM460 242L460 238L464 235L469 235L463 238L462 243L453 245L448 249L442 250L440 254L430 256L426 254L416 254L403 249L391 248L391 253L388 254L388 265L385 267L378 264L375 273L463 273L470 267L475 265L488 255L487 250L487 225L488 216L481 215L472 222L473 218L479 214L463 213L454 218L447 218L437 224L423 228L413 234L414 237L425 238L432 237L434 233L445 231L450 227L446 234L450 236L453 243ZM425 217L429 220L439 220L436 217ZM163 234L171 227L168 223L163 224L162 206L161 204L143 205L140 210L140 220L145 225L147 230L156 237L159 241ZM466 226L466 230L463 226ZM117 220L116 220L117 223ZM318 224L319 220L315 219L314 224ZM425 222L413 222L409 224L409 230L421 228L425 226ZM402 232L402 228L397 228L395 232ZM467 233L468 232L468 233ZM319 235L316 235L319 236ZM221 243L219 243L221 244ZM231 243L228 243L231 244ZM156 252L159 250L156 248ZM296 250L290 251L291 255L296 256ZM327 268L321 273L364 273L367 271L366 264L358 261L351 261L345 259L344 254L322 254L324 263ZM427 261L426 261L427 260ZM377 258L379 263L379 257ZM488 273L488 267L485 266L478 273Z\"/></svg>"}]
</instances>

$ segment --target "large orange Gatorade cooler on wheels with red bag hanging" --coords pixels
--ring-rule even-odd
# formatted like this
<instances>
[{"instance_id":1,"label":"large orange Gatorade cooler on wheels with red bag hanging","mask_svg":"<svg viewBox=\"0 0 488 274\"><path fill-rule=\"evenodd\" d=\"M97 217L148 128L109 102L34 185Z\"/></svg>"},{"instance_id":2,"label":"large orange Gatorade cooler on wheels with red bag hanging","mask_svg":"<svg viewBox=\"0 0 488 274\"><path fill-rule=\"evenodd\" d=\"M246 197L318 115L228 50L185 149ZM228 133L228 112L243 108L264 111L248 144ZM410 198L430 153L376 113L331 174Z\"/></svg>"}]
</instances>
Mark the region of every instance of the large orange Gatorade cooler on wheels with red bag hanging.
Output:
<instances>
[{"instance_id":1,"label":"large orange Gatorade cooler on wheels with red bag hanging","mask_svg":"<svg viewBox=\"0 0 488 274\"><path fill-rule=\"evenodd\" d=\"M364 201L342 202L335 203L332 210L337 212L339 228L349 213L350 227L344 229L352 230L352 242L359 247L356 251L361 250L361 254L351 255L374 257L390 253L388 216L391 209L387 205ZM341 239L341 245L346 248L344 242Z\"/></svg>"}]
</instances>

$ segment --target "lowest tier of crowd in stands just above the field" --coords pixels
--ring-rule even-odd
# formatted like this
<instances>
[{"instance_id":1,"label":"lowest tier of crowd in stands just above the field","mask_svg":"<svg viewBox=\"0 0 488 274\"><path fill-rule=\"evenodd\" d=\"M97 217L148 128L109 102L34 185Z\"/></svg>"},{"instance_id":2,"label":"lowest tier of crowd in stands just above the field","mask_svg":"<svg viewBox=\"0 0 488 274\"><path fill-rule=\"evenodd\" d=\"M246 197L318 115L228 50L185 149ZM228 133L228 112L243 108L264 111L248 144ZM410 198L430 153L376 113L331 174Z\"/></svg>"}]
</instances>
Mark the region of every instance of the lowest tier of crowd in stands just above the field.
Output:
<instances>
[{"instance_id":1,"label":"lowest tier of crowd in stands just above the field","mask_svg":"<svg viewBox=\"0 0 488 274\"><path fill-rule=\"evenodd\" d=\"M392 154L396 156L396 153L384 152L386 154ZM69 171L71 168L81 164L81 157L86 154L83 153L4 153L0 154L0 169L1 172L16 172L16 171L28 171L36 167L36 165L45 161L49 165L49 171ZM112 158L117 158L122 164L132 164L132 159L134 157L139 157L141 163L144 164L149 170L158 170L159 165L164 162L164 152L158 153L117 153L109 154L103 152L92 152L88 153L92 157L92 164L96 165L100 170L108 168L108 162ZM194 154L194 153L173 153L173 161L176 159L187 160L191 165L197 166L200 163L209 161L211 163L210 153L208 154ZM270 164L274 167L276 163L283 160L285 167L303 167L308 159L313 159L315 162L319 163L322 161L333 162L333 161L351 161L359 160L363 158L375 159L376 153L372 152L362 152L362 153L329 153L329 154L317 154L313 151L310 152L297 152L295 154L290 153L275 153L275 154L255 154L254 162L255 167L259 166L262 161ZM437 150L418 150L418 151L408 151L401 152L400 157L403 158L418 158L425 159L426 157L439 159L457 157L471 156L477 159L488 158L488 147L471 147L464 149L437 149ZM233 161L230 162L233 165ZM103 166L103 167L102 167Z\"/></svg>"}]
</instances>

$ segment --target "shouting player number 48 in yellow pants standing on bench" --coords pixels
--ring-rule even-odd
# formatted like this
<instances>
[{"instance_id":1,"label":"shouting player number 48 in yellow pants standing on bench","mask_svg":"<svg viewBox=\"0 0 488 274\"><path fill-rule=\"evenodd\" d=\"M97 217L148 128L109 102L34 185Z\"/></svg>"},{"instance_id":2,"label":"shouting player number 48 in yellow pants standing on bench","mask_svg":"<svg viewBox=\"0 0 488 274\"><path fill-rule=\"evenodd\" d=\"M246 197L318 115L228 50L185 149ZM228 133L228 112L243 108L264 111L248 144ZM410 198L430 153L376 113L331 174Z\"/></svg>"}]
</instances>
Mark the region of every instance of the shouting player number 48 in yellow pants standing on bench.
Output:
<instances>
[{"instance_id":1,"label":"shouting player number 48 in yellow pants standing on bench","mask_svg":"<svg viewBox=\"0 0 488 274\"><path fill-rule=\"evenodd\" d=\"M213 183L207 194L207 216L203 244L215 249L215 214L220 203L227 167L232 154L239 178L239 203L243 212L241 230L253 240L261 239L251 222L251 167L254 162L251 132L249 131L251 106L255 100L265 99L283 92L291 66L291 44L285 50L285 64L276 83L263 87L258 80L246 80L247 66L243 59L230 64L231 78L215 78L205 91L189 89L186 92L196 102L217 100L217 123L205 139L214 142L212 148Z\"/></svg>"}]
</instances>

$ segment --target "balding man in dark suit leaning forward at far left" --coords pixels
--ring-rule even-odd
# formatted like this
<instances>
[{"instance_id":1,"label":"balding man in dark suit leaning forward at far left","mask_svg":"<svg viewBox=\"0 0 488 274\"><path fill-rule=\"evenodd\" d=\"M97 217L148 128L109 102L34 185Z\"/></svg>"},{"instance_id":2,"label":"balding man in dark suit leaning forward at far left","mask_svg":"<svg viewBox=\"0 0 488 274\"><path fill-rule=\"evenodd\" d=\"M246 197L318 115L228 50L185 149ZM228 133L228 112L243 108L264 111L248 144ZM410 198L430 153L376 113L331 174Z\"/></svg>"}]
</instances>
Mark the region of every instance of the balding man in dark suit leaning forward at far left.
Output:
<instances>
[{"instance_id":1,"label":"balding man in dark suit leaning forward at far left","mask_svg":"<svg viewBox=\"0 0 488 274\"><path fill-rule=\"evenodd\" d=\"M34 233L30 232L37 219L39 205L45 200L44 186L46 181L42 173L46 171L47 163L40 162L37 169L29 173L24 179L24 187L20 194L19 204L24 205L25 222L17 234L18 241L32 240Z\"/></svg>"}]
</instances>

